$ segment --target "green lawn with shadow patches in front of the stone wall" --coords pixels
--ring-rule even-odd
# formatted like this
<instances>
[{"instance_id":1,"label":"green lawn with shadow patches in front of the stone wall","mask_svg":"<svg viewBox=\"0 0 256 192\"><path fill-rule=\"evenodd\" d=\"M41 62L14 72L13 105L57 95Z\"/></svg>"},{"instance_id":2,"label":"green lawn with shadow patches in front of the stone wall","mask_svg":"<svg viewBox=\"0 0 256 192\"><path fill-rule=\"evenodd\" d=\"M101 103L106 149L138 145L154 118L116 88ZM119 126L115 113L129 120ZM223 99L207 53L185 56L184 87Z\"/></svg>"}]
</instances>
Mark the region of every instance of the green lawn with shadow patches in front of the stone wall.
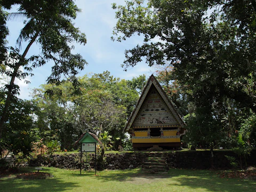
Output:
<instances>
[{"instance_id":1,"label":"green lawn with shadow patches in front of the stone wall","mask_svg":"<svg viewBox=\"0 0 256 192\"><path fill-rule=\"evenodd\" d=\"M25 171L34 171L27 168ZM46 167L53 178L0 178L0 191L256 191L256 181L220 178L217 171L171 169L168 174L143 174L140 169L94 172Z\"/></svg>"}]
</instances>

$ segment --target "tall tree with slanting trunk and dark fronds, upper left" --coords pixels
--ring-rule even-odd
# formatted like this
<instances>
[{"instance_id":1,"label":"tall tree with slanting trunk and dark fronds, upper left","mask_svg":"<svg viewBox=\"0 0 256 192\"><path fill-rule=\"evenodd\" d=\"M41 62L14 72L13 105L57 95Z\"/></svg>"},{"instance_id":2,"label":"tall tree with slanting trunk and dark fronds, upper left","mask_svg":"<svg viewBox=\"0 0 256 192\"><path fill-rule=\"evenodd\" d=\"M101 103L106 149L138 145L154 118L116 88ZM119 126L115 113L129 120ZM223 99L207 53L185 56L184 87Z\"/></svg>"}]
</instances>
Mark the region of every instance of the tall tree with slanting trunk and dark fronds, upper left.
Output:
<instances>
[{"instance_id":1,"label":"tall tree with slanting trunk and dark fronds, upper left","mask_svg":"<svg viewBox=\"0 0 256 192\"><path fill-rule=\"evenodd\" d=\"M21 29L17 39L18 49L10 47L9 54L4 52L4 58L1 58L1 63L10 68L7 75L10 76L11 81L5 85L7 94L5 107L1 111L0 138L2 137L4 123L9 116L9 106L19 92L18 85L14 84L15 78L25 79L26 76L33 75L31 71L34 68L41 67L52 60L54 66L52 67L52 74L47 78L47 82L59 84L63 74L67 77L70 76L68 79L77 86L75 77L78 73L77 70L82 70L86 64L81 55L71 53L74 48L74 46L70 45L71 43L77 42L83 45L86 43L85 34L80 33L79 29L75 28L73 24L73 20L79 11L74 1L3 0L0 4L0 16L1 20L3 20L0 25L3 27L5 27L6 14L3 13L2 7L10 10L11 6L15 4L19 5L18 13L9 15L22 14L26 20L25 26ZM4 30L6 31L6 29ZM5 41L3 40L5 36L1 36L0 43ZM27 46L23 53L20 53L22 43L27 43ZM41 53L27 57L27 53L33 43L41 46ZM2 47L3 44L0 46ZM21 71L21 67L26 71Z\"/></svg>"}]
</instances>

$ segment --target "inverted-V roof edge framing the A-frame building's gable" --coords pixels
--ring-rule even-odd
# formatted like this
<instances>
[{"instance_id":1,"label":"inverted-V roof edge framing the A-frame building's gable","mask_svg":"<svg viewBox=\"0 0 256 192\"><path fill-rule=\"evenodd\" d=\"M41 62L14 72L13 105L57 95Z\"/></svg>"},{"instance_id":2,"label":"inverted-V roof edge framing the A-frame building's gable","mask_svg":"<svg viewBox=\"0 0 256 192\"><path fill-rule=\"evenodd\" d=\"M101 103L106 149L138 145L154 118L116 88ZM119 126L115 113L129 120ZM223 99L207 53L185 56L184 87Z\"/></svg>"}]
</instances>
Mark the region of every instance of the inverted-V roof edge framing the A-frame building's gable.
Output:
<instances>
[{"instance_id":1,"label":"inverted-V roof edge framing the A-frame building's gable","mask_svg":"<svg viewBox=\"0 0 256 192\"><path fill-rule=\"evenodd\" d=\"M136 107L134 108L134 110L132 111L131 116L128 119L128 122L125 126L124 132L130 130L130 128L131 128L135 118L137 117L138 112L139 112L143 102L145 101L145 98L147 97L147 95L149 93L149 90L152 86L155 86L157 92L159 93L159 95L161 95L161 97L164 100L166 106L170 109L170 111L173 115L173 118L175 119L176 122L178 122L179 126L182 127L182 128L185 126L185 123L182 121L180 115L177 113L177 111L173 107L172 102L167 97L167 95L166 95L165 91L163 90L162 86L159 84L159 82L154 77L154 75L151 75L148 79L148 82L147 82L146 86L144 87L144 89L142 91L141 97L140 97L139 101L137 102Z\"/></svg>"}]
</instances>

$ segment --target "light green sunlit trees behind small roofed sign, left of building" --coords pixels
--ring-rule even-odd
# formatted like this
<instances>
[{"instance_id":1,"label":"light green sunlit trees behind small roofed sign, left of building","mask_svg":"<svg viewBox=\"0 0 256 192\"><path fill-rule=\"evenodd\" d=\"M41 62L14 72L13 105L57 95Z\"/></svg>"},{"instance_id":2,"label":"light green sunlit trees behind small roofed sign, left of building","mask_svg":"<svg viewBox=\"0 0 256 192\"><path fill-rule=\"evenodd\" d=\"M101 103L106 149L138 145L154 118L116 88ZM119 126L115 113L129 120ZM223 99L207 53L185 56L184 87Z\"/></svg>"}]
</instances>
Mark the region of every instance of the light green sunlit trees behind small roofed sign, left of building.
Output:
<instances>
[{"instance_id":1,"label":"light green sunlit trees behind small roofed sign, left of building","mask_svg":"<svg viewBox=\"0 0 256 192\"><path fill-rule=\"evenodd\" d=\"M117 149L125 137L123 128L139 99L138 92L129 81L114 78L109 71L92 77L85 75L78 81L81 94L73 93L70 82L34 89L34 101L41 108L38 127L41 133L47 133L42 137L52 140L54 135L61 149L70 150L82 133L90 131L100 137L106 131Z\"/></svg>"}]
</instances>

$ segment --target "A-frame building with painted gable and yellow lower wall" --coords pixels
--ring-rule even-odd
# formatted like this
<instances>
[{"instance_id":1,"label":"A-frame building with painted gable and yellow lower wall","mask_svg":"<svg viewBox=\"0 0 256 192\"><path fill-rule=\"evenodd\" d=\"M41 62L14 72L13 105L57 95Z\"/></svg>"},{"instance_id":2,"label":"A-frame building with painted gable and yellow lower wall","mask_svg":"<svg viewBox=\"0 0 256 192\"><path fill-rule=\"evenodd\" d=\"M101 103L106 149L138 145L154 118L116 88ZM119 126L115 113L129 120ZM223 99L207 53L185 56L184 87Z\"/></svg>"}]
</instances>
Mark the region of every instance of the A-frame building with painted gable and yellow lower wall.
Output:
<instances>
[{"instance_id":1,"label":"A-frame building with painted gable and yellow lower wall","mask_svg":"<svg viewBox=\"0 0 256 192\"><path fill-rule=\"evenodd\" d=\"M132 135L133 148L179 147L184 126L162 86L151 75L124 129Z\"/></svg>"}]
</instances>

